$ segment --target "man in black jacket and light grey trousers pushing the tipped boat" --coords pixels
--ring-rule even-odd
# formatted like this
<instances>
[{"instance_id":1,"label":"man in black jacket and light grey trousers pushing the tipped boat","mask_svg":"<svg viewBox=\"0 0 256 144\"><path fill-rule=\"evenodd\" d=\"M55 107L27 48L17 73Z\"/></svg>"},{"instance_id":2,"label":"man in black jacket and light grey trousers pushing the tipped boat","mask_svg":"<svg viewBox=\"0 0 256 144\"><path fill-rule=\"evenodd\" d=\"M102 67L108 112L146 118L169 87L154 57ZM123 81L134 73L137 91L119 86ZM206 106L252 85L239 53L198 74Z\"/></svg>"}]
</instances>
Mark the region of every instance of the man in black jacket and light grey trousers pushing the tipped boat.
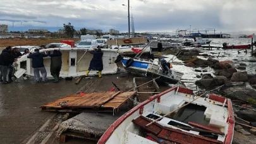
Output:
<instances>
[{"instance_id":1,"label":"man in black jacket and light grey trousers pushing the tipped boat","mask_svg":"<svg viewBox=\"0 0 256 144\"><path fill-rule=\"evenodd\" d=\"M34 76L35 80L39 83L40 81L40 74L42 75L42 82L46 82L46 68L44 68L44 58L47 57L47 54L44 54L42 52L39 52L39 49L35 49L35 52L33 54L29 54L28 58L32 59L32 68L34 68Z\"/></svg>"}]
</instances>

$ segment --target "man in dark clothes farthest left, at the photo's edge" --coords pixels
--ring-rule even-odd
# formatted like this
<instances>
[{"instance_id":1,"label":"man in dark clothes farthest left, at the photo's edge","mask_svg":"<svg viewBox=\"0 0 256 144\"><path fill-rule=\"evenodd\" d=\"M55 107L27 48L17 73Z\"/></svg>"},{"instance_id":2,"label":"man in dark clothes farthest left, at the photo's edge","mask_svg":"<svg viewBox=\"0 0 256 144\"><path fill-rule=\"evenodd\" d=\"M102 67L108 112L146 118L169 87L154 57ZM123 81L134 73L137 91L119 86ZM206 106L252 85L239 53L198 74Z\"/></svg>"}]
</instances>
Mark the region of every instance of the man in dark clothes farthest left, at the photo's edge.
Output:
<instances>
[{"instance_id":1,"label":"man in dark clothes farthest left, at the photo's edge","mask_svg":"<svg viewBox=\"0 0 256 144\"><path fill-rule=\"evenodd\" d=\"M13 61L16 61L16 59L14 59L11 56L10 52L11 52L11 47L8 46L0 54L0 71L1 71L0 81L3 81L3 83L8 83L8 81L6 80L6 76L8 74L9 64L12 64Z\"/></svg>"}]
</instances>

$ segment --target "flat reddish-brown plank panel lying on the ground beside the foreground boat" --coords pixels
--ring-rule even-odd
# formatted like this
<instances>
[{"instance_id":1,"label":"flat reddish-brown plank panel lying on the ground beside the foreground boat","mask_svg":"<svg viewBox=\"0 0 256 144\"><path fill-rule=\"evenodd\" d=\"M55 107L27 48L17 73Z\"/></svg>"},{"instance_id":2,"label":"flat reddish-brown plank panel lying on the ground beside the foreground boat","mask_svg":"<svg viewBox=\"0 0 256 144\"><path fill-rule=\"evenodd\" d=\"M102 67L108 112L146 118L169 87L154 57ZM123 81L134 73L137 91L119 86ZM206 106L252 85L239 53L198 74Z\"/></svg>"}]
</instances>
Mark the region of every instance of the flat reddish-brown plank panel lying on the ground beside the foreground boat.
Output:
<instances>
[{"instance_id":1,"label":"flat reddish-brown plank panel lying on the ground beside the foreground boat","mask_svg":"<svg viewBox=\"0 0 256 144\"><path fill-rule=\"evenodd\" d=\"M70 95L42 105L44 111L113 112L137 92L97 92Z\"/></svg>"}]
</instances>

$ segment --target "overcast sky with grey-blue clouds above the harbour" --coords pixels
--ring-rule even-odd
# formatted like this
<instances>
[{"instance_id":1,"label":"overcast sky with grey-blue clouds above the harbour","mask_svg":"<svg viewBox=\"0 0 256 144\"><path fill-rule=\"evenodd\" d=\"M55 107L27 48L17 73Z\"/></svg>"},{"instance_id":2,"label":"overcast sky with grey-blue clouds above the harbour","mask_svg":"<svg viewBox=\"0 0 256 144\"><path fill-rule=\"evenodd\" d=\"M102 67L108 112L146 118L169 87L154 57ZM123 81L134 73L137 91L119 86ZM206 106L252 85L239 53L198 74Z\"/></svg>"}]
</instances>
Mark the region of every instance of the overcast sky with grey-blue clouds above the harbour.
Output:
<instances>
[{"instance_id":1,"label":"overcast sky with grey-blue clouds above the harbour","mask_svg":"<svg viewBox=\"0 0 256 144\"><path fill-rule=\"evenodd\" d=\"M0 24L15 28L82 27L128 31L127 0L1 0ZM137 32L178 28L255 31L256 0L130 0ZM21 21L22 24L21 24Z\"/></svg>"}]
</instances>

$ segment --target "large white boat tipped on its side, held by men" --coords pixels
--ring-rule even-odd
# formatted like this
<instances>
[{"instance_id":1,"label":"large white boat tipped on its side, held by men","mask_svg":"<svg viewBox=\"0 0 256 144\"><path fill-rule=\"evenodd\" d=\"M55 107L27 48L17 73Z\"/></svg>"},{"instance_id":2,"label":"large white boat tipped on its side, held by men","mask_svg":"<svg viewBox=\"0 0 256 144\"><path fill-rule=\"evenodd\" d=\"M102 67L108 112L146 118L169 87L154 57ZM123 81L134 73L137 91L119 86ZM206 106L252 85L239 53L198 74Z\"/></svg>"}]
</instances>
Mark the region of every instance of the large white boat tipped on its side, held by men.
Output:
<instances>
[{"instance_id":1,"label":"large white boat tipped on its side, held by men","mask_svg":"<svg viewBox=\"0 0 256 144\"><path fill-rule=\"evenodd\" d=\"M44 51L54 51L60 50L62 53L62 67L60 76L70 77L70 76L82 76L85 75L90 61L92 59L92 54L90 51L93 49L86 48L53 48L53 49L44 49ZM102 61L103 61L103 70L102 75L114 74L118 71L118 66L114 61L118 56L116 49L101 49L104 52ZM16 72L15 76L20 78L21 75L26 74L34 76L34 69L32 68L32 59L28 59L28 55L21 56L13 65L15 66ZM51 76L50 66L51 66L51 57L44 57L44 66L46 67L47 77ZM91 71L89 76L97 75L98 71Z\"/></svg>"}]
</instances>

